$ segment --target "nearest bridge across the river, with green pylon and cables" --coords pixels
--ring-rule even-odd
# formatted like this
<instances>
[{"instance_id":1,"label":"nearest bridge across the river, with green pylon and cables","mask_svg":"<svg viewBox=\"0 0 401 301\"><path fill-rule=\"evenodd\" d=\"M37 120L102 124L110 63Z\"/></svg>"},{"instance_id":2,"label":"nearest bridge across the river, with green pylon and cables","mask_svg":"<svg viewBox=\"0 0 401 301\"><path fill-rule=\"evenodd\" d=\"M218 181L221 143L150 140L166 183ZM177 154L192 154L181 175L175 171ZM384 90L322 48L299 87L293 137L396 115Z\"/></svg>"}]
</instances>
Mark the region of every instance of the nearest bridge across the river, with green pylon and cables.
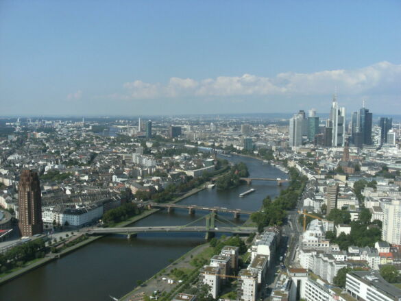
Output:
<instances>
[{"instance_id":1,"label":"nearest bridge across the river, with green pylon and cables","mask_svg":"<svg viewBox=\"0 0 401 301\"><path fill-rule=\"evenodd\" d=\"M193 226L198 221L205 219L205 226ZM215 225L215 221L219 225ZM232 233L232 234L251 234L257 232L257 228L238 226L228 219L217 217L215 212L200 217L191 223L183 226L147 226L147 227L125 227L125 228L92 228L88 229L86 234L89 235L102 235L102 234L124 234L128 239L136 236L138 233L146 232L206 232L206 239L215 236L215 233Z\"/></svg>"}]
</instances>

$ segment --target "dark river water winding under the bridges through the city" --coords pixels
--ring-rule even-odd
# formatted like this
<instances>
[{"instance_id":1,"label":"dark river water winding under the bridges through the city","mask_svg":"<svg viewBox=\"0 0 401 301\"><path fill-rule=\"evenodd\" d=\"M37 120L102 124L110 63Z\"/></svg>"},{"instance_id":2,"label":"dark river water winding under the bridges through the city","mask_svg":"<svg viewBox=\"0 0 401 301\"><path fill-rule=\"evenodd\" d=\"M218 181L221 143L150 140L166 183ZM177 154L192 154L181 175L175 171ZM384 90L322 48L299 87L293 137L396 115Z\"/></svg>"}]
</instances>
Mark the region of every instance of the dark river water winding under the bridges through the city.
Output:
<instances>
[{"instance_id":1,"label":"dark river water winding under the bridges through the city","mask_svg":"<svg viewBox=\"0 0 401 301\"><path fill-rule=\"evenodd\" d=\"M240 156L222 158L234 163L245 162L254 178L287 178L285 173L263 165L260 160ZM252 188L256 191L246 197L239 197L239 193L250 189L246 184L230 191L204 190L180 204L258 210L264 197L274 197L282 189L276 182L267 181L254 181ZM184 209L175 209L173 213L161 210L137 221L135 226L175 226L191 222L200 225L204 220L197 219L206 214L198 211L189 215ZM245 215L235 220L228 213L218 217L235 224L247 219ZM136 280L146 280L169 265L171 259L179 258L201 243L204 243L204 234L200 233L138 234L130 240L118 235L104 237L0 286L0 300L107 301L109 295L120 298L134 289Z\"/></svg>"}]
</instances>

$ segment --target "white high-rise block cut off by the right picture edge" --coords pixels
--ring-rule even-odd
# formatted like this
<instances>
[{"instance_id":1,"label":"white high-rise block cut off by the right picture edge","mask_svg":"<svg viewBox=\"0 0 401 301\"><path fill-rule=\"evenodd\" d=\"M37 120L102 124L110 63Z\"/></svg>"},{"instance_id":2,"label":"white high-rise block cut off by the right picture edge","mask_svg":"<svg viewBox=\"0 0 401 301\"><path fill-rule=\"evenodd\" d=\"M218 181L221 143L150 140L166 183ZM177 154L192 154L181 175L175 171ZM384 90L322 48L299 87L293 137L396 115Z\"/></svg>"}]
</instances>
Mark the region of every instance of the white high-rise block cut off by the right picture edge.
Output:
<instances>
[{"instance_id":1,"label":"white high-rise block cut off by the right picture edge","mask_svg":"<svg viewBox=\"0 0 401 301\"><path fill-rule=\"evenodd\" d=\"M383 211L382 240L401 245L401 201L383 203Z\"/></svg>"}]
</instances>

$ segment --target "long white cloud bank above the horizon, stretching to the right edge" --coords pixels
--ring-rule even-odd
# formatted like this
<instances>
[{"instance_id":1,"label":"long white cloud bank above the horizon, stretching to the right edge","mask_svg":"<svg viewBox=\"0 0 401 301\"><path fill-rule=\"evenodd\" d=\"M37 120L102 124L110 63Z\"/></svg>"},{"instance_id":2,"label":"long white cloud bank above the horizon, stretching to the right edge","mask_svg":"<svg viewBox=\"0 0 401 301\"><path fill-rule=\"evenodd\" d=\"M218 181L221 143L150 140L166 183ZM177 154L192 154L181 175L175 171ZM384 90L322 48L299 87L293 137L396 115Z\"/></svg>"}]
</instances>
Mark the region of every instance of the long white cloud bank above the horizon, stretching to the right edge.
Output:
<instances>
[{"instance_id":1,"label":"long white cloud bank above the horizon, stretching to the right edge","mask_svg":"<svg viewBox=\"0 0 401 301\"><path fill-rule=\"evenodd\" d=\"M232 96L302 96L327 95L335 87L343 95L361 95L386 91L399 94L401 64L379 62L354 70L319 71L315 73L280 73L276 77L219 76L196 81L191 78L171 77L167 84L147 83L141 80L127 82L127 95L122 99L156 99L181 97ZM73 94L81 96L81 92Z\"/></svg>"}]
</instances>

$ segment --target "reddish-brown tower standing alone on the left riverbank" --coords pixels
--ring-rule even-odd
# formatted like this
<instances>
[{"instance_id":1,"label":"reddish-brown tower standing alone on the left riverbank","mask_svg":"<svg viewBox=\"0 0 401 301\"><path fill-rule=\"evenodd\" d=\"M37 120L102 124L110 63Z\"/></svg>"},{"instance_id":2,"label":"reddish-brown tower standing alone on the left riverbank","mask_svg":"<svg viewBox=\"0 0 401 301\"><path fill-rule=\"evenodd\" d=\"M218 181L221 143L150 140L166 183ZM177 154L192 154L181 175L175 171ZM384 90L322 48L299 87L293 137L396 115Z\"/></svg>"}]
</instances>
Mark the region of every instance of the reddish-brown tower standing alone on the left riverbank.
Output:
<instances>
[{"instance_id":1,"label":"reddish-brown tower standing alone on the left riverbank","mask_svg":"<svg viewBox=\"0 0 401 301\"><path fill-rule=\"evenodd\" d=\"M23 170L18 184L19 229L23 237L43 232L42 197L38 173Z\"/></svg>"}]
</instances>

